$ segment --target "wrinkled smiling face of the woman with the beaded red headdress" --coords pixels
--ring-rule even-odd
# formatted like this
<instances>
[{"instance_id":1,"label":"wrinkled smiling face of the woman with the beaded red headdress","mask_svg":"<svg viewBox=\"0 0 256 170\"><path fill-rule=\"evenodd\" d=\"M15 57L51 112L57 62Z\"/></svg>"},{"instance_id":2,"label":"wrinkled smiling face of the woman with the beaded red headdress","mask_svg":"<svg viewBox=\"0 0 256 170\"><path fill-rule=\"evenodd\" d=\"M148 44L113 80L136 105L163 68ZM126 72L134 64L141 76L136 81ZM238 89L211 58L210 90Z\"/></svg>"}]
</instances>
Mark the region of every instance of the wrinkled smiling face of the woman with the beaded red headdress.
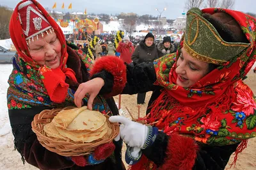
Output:
<instances>
[{"instance_id":1,"label":"wrinkled smiling face of the woman with the beaded red headdress","mask_svg":"<svg viewBox=\"0 0 256 170\"><path fill-rule=\"evenodd\" d=\"M29 53L31 58L40 65L46 65L50 68L58 68L61 59L61 43L56 33L50 33L44 38L40 36L38 40L29 43Z\"/></svg>"}]
</instances>

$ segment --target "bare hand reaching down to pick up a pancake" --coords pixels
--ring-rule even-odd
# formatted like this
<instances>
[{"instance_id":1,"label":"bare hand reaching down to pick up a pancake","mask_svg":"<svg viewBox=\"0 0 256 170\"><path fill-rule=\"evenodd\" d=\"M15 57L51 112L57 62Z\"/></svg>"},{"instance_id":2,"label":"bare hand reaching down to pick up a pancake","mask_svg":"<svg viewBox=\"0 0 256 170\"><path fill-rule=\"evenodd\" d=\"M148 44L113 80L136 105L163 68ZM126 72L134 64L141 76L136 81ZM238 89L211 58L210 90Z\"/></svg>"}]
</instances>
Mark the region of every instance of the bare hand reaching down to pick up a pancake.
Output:
<instances>
[{"instance_id":1,"label":"bare hand reaching down to pick up a pancake","mask_svg":"<svg viewBox=\"0 0 256 170\"><path fill-rule=\"evenodd\" d=\"M99 91L103 86L104 80L100 77L81 83L74 95L76 106L81 107L84 96L86 93L89 93L90 97L88 99L87 107L89 110L92 110L93 100L99 94Z\"/></svg>"}]
</instances>

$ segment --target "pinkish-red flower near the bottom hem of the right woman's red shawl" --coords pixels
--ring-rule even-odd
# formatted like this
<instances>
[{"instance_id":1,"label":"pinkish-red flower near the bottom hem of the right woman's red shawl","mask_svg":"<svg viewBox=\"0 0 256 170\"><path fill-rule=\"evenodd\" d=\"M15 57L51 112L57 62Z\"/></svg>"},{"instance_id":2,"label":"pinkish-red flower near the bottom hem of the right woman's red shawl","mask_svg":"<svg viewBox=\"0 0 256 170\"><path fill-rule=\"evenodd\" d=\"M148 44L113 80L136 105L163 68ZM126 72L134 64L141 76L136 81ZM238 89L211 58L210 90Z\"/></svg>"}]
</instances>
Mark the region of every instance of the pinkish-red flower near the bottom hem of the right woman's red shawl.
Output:
<instances>
[{"instance_id":1,"label":"pinkish-red flower near the bottom hem of the right woman's red shawl","mask_svg":"<svg viewBox=\"0 0 256 170\"><path fill-rule=\"evenodd\" d=\"M221 127L221 123L218 117L216 118L211 118L211 116L208 116L207 118L203 117L200 121L204 123L204 125L202 125L201 127L204 128L205 130L210 129L210 130L217 131Z\"/></svg>"}]
</instances>

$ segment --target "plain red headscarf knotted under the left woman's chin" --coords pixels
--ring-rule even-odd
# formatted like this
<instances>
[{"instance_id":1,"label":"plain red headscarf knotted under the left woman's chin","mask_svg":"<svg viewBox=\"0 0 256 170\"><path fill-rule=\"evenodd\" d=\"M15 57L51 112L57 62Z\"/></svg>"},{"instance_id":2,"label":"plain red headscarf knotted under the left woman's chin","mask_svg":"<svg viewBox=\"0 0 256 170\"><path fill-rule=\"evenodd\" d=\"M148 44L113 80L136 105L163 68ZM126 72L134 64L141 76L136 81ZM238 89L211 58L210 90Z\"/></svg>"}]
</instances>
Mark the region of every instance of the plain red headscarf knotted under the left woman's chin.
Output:
<instances>
[{"instance_id":1,"label":"plain red headscarf knotted under the left woman's chin","mask_svg":"<svg viewBox=\"0 0 256 170\"><path fill-rule=\"evenodd\" d=\"M46 12L44 7L35 0L31 1L33 1L37 8L43 13L45 19L47 19L51 24L58 39L60 40L62 45L60 66L56 69L51 69L46 66L38 65L38 63L31 58L25 35L22 31L22 27L20 26L18 15L18 6L19 4L24 3L24 1L17 4L15 10L13 11L12 18L10 20L10 36L19 57L28 63L28 65L30 65L33 69L39 70L39 72L42 74L42 81L44 82L44 86L52 102L61 103L65 101L65 97L67 96L68 84L65 82L66 76L72 81L77 82L74 71L70 68L65 68L68 58L65 36L63 35L63 32L58 24L54 19L52 19L49 13Z\"/></svg>"}]
</instances>

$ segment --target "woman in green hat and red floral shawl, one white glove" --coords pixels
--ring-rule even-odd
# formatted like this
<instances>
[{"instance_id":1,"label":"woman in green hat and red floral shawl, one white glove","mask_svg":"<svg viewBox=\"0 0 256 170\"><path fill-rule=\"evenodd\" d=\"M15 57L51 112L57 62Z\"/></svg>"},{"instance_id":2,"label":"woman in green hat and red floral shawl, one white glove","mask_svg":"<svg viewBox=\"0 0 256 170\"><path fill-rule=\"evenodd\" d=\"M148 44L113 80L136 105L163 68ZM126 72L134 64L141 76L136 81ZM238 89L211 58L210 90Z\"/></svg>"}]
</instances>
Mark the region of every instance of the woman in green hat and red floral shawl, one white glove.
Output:
<instances>
[{"instance_id":1,"label":"woman in green hat and red floral shawl, one white glove","mask_svg":"<svg viewBox=\"0 0 256 170\"><path fill-rule=\"evenodd\" d=\"M255 62L255 23L233 10L192 8L177 54L126 68L117 58L99 59L93 77L103 72L111 79L102 77L100 89L87 86L90 81L81 84L75 103L80 107L85 93L100 90L108 96L154 91L141 120L153 127L109 118L122 123L130 169L225 169L230 155L256 136L255 99L241 81Z\"/></svg>"}]
</instances>

